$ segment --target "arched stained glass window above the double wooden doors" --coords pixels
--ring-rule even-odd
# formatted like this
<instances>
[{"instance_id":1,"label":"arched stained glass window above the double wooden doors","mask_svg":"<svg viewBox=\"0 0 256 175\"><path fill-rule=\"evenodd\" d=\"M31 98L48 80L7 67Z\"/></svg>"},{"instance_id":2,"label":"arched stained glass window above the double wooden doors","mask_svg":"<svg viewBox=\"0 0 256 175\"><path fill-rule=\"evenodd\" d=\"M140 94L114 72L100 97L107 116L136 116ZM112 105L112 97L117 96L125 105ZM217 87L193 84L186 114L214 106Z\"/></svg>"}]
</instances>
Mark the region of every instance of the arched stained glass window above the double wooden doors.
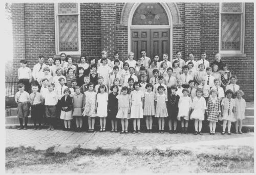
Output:
<instances>
[{"instance_id":1,"label":"arched stained glass window above the double wooden doors","mask_svg":"<svg viewBox=\"0 0 256 175\"><path fill-rule=\"evenodd\" d=\"M168 25L168 16L160 3L141 3L133 15L132 25Z\"/></svg>"}]
</instances>

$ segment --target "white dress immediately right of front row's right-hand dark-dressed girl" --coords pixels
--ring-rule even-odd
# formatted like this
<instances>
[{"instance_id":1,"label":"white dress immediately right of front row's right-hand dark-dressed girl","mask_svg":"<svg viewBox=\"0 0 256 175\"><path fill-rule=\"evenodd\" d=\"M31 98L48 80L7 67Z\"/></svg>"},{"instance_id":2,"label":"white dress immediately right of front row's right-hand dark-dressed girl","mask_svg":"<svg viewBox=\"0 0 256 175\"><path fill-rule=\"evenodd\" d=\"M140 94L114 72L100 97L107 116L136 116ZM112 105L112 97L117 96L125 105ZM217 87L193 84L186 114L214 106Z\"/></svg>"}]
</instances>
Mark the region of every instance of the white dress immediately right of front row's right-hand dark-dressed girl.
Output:
<instances>
[{"instance_id":1,"label":"white dress immediately right of front row's right-hand dark-dressed girl","mask_svg":"<svg viewBox=\"0 0 256 175\"><path fill-rule=\"evenodd\" d=\"M192 100L189 96L181 96L179 99L179 113L177 116L178 120L183 117L185 120L189 120L189 108L192 107Z\"/></svg>"}]
</instances>

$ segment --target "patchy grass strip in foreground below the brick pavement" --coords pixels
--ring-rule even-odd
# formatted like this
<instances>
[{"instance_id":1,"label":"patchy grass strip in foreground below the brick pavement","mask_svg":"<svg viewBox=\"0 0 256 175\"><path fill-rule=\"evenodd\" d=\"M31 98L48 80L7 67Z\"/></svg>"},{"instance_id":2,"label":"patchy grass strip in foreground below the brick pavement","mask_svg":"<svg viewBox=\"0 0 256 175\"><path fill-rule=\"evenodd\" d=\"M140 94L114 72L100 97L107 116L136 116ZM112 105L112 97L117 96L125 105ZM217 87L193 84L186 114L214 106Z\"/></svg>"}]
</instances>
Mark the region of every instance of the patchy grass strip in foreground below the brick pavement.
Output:
<instances>
[{"instance_id":1,"label":"patchy grass strip in foreground below the brick pavement","mask_svg":"<svg viewBox=\"0 0 256 175\"><path fill-rule=\"evenodd\" d=\"M253 173L253 148L212 147L210 153L186 150L132 151L75 148L70 153L54 147L38 151L32 147L6 148L6 173Z\"/></svg>"}]
</instances>

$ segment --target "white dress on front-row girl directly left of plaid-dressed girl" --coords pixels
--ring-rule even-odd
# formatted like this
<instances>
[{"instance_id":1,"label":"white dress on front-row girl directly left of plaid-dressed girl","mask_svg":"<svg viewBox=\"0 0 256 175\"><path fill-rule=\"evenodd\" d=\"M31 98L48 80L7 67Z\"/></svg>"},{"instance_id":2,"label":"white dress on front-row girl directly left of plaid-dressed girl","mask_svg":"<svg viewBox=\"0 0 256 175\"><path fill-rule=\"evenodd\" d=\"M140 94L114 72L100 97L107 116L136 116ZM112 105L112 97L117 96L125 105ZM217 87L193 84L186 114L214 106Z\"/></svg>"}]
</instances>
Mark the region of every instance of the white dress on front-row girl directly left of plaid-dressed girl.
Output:
<instances>
[{"instance_id":1,"label":"white dress on front-row girl directly left of plaid-dressed girl","mask_svg":"<svg viewBox=\"0 0 256 175\"><path fill-rule=\"evenodd\" d=\"M192 109L194 109L194 111L191 113L190 119L204 120L204 110L207 109L204 97L193 98Z\"/></svg>"}]
</instances>

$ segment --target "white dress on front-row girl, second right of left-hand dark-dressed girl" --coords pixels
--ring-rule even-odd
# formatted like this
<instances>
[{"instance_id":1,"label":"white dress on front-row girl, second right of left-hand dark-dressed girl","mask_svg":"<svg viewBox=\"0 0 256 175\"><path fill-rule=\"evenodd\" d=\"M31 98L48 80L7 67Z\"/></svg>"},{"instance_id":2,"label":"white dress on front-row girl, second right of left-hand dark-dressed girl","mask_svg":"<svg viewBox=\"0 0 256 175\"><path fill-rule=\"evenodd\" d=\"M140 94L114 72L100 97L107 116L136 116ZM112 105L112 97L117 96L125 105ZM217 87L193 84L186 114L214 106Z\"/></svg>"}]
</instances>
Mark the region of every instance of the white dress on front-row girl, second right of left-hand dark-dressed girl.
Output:
<instances>
[{"instance_id":1,"label":"white dress on front-row girl, second right of left-hand dark-dressed girl","mask_svg":"<svg viewBox=\"0 0 256 175\"><path fill-rule=\"evenodd\" d=\"M141 98L144 98L144 92L141 90L133 90L131 92L132 107L131 118L143 118L143 109Z\"/></svg>"}]
</instances>

